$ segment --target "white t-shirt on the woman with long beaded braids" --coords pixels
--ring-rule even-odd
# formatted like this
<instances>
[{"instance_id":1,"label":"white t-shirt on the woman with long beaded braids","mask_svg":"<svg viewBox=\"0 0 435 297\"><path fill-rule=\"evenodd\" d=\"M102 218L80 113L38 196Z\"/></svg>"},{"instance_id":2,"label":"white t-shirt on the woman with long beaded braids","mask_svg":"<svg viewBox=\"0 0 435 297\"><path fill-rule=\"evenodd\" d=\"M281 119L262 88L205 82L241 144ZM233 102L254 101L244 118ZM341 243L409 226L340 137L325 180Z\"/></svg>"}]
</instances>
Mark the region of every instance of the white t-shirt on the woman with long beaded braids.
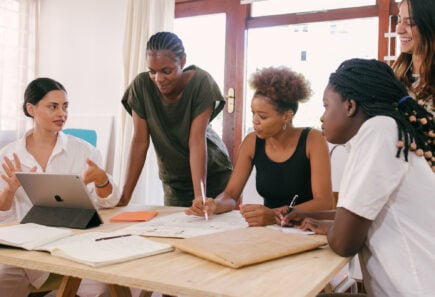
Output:
<instances>
[{"instance_id":1,"label":"white t-shirt on the woman with long beaded braids","mask_svg":"<svg viewBox=\"0 0 435 297\"><path fill-rule=\"evenodd\" d=\"M398 128L367 120L350 150L338 207L372 220L360 252L370 296L435 296L435 175L423 157L396 158Z\"/></svg>"}]
</instances>

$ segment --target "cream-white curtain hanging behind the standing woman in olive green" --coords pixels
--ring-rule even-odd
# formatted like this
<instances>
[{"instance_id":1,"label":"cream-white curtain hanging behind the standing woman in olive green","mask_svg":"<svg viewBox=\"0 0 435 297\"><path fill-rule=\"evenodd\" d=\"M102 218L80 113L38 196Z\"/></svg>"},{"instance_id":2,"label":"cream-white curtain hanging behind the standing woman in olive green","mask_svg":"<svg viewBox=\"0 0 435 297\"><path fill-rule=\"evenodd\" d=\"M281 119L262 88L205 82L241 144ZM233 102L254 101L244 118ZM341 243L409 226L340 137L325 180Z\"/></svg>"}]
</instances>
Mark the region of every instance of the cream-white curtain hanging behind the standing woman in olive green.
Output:
<instances>
[{"instance_id":1,"label":"cream-white curtain hanging behind the standing woman in olive green","mask_svg":"<svg viewBox=\"0 0 435 297\"><path fill-rule=\"evenodd\" d=\"M172 31L175 0L129 0L124 38L124 88L146 70L145 49L149 37L159 31ZM133 135L132 119L121 110L114 177L124 185L126 166ZM151 145L141 177L130 204L163 205L163 190L158 177L157 160Z\"/></svg>"}]
</instances>

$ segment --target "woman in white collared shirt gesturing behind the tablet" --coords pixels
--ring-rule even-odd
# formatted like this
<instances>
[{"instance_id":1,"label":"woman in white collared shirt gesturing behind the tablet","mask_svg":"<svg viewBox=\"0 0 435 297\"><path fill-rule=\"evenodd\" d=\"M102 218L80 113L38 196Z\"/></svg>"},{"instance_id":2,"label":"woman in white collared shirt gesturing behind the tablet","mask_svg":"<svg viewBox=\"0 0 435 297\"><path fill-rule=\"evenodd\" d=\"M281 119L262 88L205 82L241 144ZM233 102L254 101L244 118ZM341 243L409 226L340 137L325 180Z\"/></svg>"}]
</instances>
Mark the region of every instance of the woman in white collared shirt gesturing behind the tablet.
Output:
<instances>
[{"instance_id":1,"label":"woman in white collared shirt gesturing behind the tablet","mask_svg":"<svg viewBox=\"0 0 435 297\"><path fill-rule=\"evenodd\" d=\"M62 133L68 118L65 88L50 78L37 78L24 93L24 114L33 119L33 129L0 150L0 223L20 221L32 204L15 172L81 174L98 207L114 207L120 195L111 177L101 168L101 153L92 145ZM39 288L49 273L0 265L2 297L27 296ZM84 281L80 296L105 296L103 284ZM85 288L86 287L86 288Z\"/></svg>"}]
</instances>

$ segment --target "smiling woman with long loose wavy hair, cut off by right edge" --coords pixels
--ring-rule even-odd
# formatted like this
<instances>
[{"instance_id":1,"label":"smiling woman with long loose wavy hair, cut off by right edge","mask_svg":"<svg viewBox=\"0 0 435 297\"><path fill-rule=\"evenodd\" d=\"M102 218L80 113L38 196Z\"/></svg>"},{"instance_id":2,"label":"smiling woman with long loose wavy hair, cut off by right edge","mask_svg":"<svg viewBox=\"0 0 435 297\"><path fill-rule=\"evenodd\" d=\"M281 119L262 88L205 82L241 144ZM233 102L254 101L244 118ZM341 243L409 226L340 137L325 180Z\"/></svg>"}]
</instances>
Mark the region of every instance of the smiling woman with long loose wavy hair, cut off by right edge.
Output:
<instances>
[{"instance_id":1,"label":"smiling woman with long loose wavy hair, cut off by right edge","mask_svg":"<svg viewBox=\"0 0 435 297\"><path fill-rule=\"evenodd\" d=\"M435 115L435 1L402 0L396 33L401 53L394 72L419 104Z\"/></svg>"}]
</instances>

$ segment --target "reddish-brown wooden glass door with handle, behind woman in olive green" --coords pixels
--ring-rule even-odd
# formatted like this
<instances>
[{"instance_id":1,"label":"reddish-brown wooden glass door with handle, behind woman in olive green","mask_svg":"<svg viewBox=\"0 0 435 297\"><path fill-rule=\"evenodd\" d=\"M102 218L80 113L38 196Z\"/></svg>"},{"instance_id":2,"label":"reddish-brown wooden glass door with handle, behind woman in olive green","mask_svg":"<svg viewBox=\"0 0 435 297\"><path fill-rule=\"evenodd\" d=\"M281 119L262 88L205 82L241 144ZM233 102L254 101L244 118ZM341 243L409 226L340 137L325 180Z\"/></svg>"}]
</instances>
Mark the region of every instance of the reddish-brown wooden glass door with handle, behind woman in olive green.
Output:
<instances>
[{"instance_id":1,"label":"reddish-brown wooden glass door with handle, behind woman in olive green","mask_svg":"<svg viewBox=\"0 0 435 297\"><path fill-rule=\"evenodd\" d=\"M187 64L208 71L227 99L213 121L231 159L242 139L245 19L247 6L238 0L177 0L174 32L185 45Z\"/></svg>"}]
</instances>

